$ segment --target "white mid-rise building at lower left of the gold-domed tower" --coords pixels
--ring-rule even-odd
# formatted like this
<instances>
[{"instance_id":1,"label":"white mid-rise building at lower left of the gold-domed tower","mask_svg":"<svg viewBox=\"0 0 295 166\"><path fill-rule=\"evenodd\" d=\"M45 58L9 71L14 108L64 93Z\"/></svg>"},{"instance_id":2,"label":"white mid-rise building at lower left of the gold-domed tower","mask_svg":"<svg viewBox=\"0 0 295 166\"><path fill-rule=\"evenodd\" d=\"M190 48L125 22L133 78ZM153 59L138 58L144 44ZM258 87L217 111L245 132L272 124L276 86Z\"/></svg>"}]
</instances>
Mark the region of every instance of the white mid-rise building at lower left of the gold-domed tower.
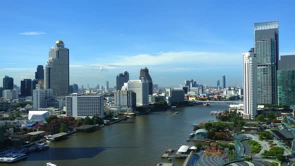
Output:
<instances>
[{"instance_id":1,"label":"white mid-rise building at lower left of the gold-domed tower","mask_svg":"<svg viewBox=\"0 0 295 166\"><path fill-rule=\"evenodd\" d=\"M52 89L33 89L33 109L45 108L46 99L52 97Z\"/></svg>"}]
</instances>

